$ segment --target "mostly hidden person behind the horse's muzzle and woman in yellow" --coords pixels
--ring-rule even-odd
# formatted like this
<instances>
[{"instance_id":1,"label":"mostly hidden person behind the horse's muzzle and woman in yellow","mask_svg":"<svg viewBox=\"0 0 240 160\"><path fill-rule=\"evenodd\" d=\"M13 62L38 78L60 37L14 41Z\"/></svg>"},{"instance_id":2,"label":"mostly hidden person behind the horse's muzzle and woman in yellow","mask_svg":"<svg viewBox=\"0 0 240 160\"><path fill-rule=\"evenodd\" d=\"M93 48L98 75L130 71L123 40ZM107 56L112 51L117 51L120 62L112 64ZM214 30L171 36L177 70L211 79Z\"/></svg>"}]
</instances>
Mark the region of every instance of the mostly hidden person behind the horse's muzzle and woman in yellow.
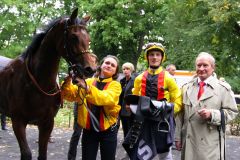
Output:
<instances>
[{"instance_id":1,"label":"mostly hidden person behind the horse's muzzle and woman in yellow","mask_svg":"<svg viewBox=\"0 0 240 160\"><path fill-rule=\"evenodd\" d=\"M91 53L90 56L91 56L92 64L94 64L95 69L97 69L97 65L98 65L97 55ZM90 77L88 77L88 78L90 78ZM80 127L77 123L77 117L78 117L78 103L77 102L74 102L73 116L74 116L74 119L73 119L73 133L72 133L70 143L69 143L68 160L75 160L76 159L77 146L78 146L78 142L79 142L79 139L81 137L81 134L82 134L82 127Z\"/></svg>"}]
</instances>

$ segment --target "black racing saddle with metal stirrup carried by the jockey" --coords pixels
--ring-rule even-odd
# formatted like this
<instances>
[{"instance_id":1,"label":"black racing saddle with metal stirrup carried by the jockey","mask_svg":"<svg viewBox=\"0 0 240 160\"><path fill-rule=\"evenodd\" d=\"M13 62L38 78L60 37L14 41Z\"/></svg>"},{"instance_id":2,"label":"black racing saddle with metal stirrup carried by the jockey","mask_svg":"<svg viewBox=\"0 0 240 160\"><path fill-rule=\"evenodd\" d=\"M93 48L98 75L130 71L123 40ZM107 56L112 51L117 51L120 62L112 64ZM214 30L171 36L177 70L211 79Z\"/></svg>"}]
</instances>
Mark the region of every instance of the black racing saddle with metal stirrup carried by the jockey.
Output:
<instances>
[{"instance_id":1,"label":"black racing saddle with metal stirrup carried by the jockey","mask_svg":"<svg viewBox=\"0 0 240 160\"><path fill-rule=\"evenodd\" d=\"M166 99L155 101L149 97L137 95L126 96L125 102L130 105L130 109L134 114L133 124L129 130L127 140L130 148L133 148L138 141L143 127L142 124L146 119L158 123L158 132L170 133L171 126L168 119L173 113L174 105L172 103L168 103Z\"/></svg>"}]
</instances>

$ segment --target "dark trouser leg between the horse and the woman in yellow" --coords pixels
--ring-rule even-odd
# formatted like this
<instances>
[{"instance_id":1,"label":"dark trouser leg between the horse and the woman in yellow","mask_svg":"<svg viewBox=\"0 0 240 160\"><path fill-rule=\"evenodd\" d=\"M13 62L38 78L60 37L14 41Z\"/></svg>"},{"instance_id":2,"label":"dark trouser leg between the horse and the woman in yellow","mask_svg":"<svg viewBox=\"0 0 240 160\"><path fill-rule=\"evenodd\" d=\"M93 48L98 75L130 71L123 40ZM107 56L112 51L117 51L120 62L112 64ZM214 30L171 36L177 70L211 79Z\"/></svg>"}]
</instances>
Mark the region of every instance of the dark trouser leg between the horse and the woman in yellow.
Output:
<instances>
[{"instance_id":1,"label":"dark trouser leg between the horse and the woman in yellow","mask_svg":"<svg viewBox=\"0 0 240 160\"><path fill-rule=\"evenodd\" d=\"M73 122L73 134L70 140L69 144L69 150L68 150L68 160L75 160L77 155L77 146L79 139L81 137L82 128L77 123L77 117L78 117L78 104L74 103L74 122Z\"/></svg>"}]
</instances>

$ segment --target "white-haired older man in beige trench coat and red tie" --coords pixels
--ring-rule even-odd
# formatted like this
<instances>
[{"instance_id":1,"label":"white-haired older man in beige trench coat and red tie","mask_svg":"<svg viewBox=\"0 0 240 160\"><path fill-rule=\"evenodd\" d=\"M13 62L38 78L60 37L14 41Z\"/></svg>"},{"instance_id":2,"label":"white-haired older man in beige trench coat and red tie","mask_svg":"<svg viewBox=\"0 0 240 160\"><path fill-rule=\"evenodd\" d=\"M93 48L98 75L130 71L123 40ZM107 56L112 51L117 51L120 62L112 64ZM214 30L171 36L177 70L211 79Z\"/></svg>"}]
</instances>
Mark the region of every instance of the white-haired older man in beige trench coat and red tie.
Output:
<instances>
[{"instance_id":1,"label":"white-haired older man in beige trench coat and red tie","mask_svg":"<svg viewBox=\"0 0 240 160\"><path fill-rule=\"evenodd\" d=\"M195 64L197 76L182 88L184 111L177 119L176 147L182 147L184 160L223 160L222 128L237 115L237 105L230 85L213 76L211 54L201 52Z\"/></svg>"}]
</instances>

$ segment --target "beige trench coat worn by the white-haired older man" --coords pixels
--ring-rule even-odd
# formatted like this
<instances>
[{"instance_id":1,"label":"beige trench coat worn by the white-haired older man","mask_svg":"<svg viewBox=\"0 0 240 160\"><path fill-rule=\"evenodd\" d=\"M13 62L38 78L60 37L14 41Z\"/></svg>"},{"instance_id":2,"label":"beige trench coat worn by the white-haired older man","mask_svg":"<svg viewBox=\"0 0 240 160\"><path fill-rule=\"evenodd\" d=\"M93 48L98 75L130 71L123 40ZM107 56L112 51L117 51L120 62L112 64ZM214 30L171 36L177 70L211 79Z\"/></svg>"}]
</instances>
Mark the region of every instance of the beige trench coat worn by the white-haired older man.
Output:
<instances>
[{"instance_id":1,"label":"beige trench coat worn by the white-haired older man","mask_svg":"<svg viewBox=\"0 0 240 160\"><path fill-rule=\"evenodd\" d=\"M182 140L182 160L219 160L220 143L217 127L221 122L220 108L223 108L225 122L234 119L238 113L231 87L226 82L213 78L205 87L200 100L197 100L197 78L182 88L184 111L176 118L176 140ZM197 111L210 109L212 119L202 119ZM224 138L221 133L221 153L223 160Z\"/></svg>"}]
</instances>

